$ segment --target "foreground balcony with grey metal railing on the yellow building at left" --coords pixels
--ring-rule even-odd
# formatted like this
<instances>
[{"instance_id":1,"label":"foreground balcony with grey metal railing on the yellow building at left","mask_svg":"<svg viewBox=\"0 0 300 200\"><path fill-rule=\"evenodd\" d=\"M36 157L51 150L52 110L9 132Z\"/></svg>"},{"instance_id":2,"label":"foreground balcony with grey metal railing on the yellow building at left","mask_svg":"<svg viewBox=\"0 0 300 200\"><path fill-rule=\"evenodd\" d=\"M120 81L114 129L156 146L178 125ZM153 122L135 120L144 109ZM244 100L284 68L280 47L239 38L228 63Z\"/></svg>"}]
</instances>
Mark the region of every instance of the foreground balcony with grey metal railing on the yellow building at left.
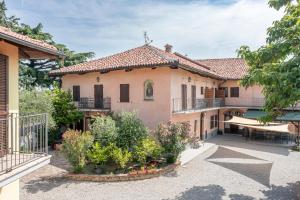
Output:
<instances>
[{"instance_id":1,"label":"foreground balcony with grey metal railing on the yellow building at left","mask_svg":"<svg viewBox=\"0 0 300 200\"><path fill-rule=\"evenodd\" d=\"M0 118L0 185L49 162L47 120L47 114Z\"/></svg>"}]
</instances>

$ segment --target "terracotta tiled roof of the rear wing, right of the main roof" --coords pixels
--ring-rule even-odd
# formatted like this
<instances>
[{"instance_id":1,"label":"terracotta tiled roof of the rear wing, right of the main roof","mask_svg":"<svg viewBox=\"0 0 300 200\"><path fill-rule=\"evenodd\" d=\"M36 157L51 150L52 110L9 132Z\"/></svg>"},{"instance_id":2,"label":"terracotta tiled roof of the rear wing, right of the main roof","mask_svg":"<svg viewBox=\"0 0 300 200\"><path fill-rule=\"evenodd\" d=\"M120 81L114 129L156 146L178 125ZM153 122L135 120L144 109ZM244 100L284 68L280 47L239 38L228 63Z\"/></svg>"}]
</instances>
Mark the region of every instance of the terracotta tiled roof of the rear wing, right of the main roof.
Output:
<instances>
[{"instance_id":1,"label":"terracotta tiled roof of the rear wing, right of the main roof","mask_svg":"<svg viewBox=\"0 0 300 200\"><path fill-rule=\"evenodd\" d=\"M227 79L242 79L248 71L246 62L241 58L202 59L197 62L210 67Z\"/></svg>"}]
</instances>

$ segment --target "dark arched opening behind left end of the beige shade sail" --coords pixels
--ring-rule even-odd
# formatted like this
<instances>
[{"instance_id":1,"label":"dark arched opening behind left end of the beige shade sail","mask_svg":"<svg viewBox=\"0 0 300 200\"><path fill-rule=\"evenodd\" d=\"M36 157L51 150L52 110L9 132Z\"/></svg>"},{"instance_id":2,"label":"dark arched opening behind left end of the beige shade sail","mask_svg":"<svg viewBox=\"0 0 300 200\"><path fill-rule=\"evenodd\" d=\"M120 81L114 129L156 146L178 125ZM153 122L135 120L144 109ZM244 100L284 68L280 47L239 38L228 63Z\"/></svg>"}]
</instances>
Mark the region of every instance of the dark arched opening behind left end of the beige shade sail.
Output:
<instances>
[{"instance_id":1,"label":"dark arched opening behind left end of the beige shade sail","mask_svg":"<svg viewBox=\"0 0 300 200\"><path fill-rule=\"evenodd\" d=\"M241 117L243 116L244 112L239 109L230 109L224 112L224 121L230 120L233 116ZM230 133L230 134L242 134L242 132L239 130L239 126L235 124L230 123L224 123L224 133Z\"/></svg>"}]
</instances>

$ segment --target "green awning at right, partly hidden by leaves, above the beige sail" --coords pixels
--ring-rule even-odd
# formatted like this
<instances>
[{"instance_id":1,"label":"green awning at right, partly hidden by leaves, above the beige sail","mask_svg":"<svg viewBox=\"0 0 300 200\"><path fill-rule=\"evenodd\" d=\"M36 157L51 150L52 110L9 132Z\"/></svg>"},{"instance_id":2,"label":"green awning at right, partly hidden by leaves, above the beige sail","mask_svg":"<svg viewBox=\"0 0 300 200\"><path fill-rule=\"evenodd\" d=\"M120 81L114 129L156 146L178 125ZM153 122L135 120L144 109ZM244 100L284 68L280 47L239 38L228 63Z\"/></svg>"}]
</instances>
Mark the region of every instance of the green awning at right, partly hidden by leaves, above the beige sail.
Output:
<instances>
[{"instance_id":1,"label":"green awning at right, partly hidden by leaves, above the beige sail","mask_svg":"<svg viewBox=\"0 0 300 200\"><path fill-rule=\"evenodd\" d=\"M261 110L248 110L245 114L245 118L258 119L266 116L267 114ZM277 117L278 121L300 121L300 111L287 111L283 116Z\"/></svg>"}]
</instances>

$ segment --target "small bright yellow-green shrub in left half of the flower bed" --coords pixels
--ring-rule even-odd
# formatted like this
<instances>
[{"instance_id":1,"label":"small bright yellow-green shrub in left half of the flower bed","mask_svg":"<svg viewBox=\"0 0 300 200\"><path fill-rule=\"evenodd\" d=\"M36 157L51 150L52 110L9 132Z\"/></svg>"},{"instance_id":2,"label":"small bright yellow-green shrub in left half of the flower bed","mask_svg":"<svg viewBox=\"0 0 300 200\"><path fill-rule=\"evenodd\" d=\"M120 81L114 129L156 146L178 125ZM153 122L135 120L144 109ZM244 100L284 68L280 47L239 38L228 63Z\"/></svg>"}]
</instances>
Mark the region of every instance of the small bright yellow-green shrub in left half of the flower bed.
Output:
<instances>
[{"instance_id":1,"label":"small bright yellow-green shrub in left half of the flower bed","mask_svg":"<svg viewBox=\"0 0 300 200\"><path fill-rule=\"evenodd\" d=\"M102 147L99 142L96 142L88 150L87 158L93 165L104 165L108 160L107 148Z\"/></svg>"}]
</instances>

